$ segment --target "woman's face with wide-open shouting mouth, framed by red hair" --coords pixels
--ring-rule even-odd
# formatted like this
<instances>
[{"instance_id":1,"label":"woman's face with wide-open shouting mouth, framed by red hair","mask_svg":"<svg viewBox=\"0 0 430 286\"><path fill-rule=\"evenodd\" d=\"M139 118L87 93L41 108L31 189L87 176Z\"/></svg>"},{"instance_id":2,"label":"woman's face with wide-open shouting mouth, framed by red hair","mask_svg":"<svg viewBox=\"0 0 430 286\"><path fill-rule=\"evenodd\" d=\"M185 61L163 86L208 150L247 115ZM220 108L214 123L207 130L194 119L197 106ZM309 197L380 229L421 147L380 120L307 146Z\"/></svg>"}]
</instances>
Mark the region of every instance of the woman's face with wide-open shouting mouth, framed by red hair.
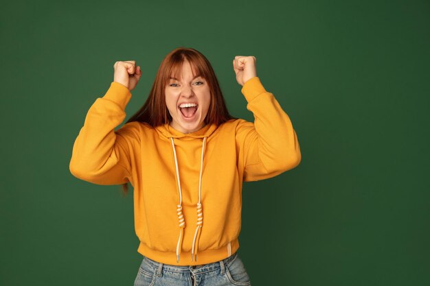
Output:
<instances>
[{"instance_id":1,"label":"woman's face with wide-open shouting mouth, framed by red hair","mask_svg":"<svg viewBox=\"0 0 430 286\"><path fill-rule=\"evenodd\" d=\"M190 62L185 60L182 78L170 78L166 86L166 106L172 116L170 126L182 133L200 130L205 126L209 105L210 88L207 81L200 76L194 78Z\"/></svg>"}]
</instances>

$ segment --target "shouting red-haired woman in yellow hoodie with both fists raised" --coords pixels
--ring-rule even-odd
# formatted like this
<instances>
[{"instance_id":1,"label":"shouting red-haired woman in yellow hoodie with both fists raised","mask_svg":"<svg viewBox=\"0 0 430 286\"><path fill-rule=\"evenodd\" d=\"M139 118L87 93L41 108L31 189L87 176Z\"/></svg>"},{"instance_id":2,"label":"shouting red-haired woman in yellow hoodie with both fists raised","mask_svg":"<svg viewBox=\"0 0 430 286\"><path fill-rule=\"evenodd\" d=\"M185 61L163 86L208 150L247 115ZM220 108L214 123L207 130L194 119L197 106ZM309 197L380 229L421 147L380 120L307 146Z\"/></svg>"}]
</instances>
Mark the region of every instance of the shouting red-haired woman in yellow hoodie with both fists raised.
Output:
<instances>
[{"instance_id":1,"label":"shouting red-haired woman in yellow hoodie with both fists raised","mask_svg":"<svg viewBox=\"0 0 430 286\"><path fill-rule=\"evenodd\" d=\"M69 167L94 184L123 184L124 193L132 184L143 255L135 285L251 285L237 253L242 182L272 178L301 160L288 115L257 77L256 58L233 60L253 123L229 115L207 58L179 47L161 62L144 106L115 131L142 69L134 60L113 67Z\"/></svg>"}]
</instances>

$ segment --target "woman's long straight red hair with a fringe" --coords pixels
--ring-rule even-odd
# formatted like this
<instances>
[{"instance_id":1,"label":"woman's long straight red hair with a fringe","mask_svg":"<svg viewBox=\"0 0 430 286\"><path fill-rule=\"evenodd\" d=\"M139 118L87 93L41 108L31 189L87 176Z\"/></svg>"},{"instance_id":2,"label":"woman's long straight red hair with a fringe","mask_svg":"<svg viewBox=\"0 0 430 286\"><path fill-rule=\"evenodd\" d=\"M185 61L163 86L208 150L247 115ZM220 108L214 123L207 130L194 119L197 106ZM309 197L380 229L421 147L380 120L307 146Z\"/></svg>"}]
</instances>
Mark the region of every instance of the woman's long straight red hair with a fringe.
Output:
<instances>
[{"instance_id":1,"label":"woman's long straight red hair with a fringe","mask_svg":"<svg viewBox=\"0 0 430 286\"><path fill-rule=\"evenodd\" d=\"M209 60L196 49L178 47L164 57L152 84L148 99L126 123L132 121L146 122L155 128L172 121L166 106L166 86L170 77L181 78L182 64L185 60L190 62L193 75L201 75L210 87L210 106L204 120L205 124L220 126L230 119L237 119L232 117L227 110L218 79ZM124 195L128 193L128 183L122 184L122 191Z\"/></svg>"}]
</instances>

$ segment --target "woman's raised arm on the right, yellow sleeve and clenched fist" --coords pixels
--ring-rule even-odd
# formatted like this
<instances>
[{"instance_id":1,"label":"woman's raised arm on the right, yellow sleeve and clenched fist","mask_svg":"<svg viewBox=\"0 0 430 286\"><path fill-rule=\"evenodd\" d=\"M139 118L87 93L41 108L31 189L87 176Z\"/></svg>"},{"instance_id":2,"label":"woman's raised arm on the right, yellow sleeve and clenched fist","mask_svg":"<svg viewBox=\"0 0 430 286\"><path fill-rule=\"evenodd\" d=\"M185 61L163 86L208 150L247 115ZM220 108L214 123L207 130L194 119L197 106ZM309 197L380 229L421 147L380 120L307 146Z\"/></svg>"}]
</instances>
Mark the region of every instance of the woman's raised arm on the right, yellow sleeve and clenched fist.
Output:
<instances>
[{"instance_id":1,"label":"woman's raised arm on the right, yellow sleeve and clenched fist","mask_svg":"<svg viewBox=\"0 0 430 286\"><path fill-rule=\"evenodd\" d=\"M254 115L254 123L241 119L236 128L244 180L263 180L293 169L302 160L297 134L286 112L256 76L255 57L236 57L234 71L247 109Z\"/></svg>"}]
</instances>

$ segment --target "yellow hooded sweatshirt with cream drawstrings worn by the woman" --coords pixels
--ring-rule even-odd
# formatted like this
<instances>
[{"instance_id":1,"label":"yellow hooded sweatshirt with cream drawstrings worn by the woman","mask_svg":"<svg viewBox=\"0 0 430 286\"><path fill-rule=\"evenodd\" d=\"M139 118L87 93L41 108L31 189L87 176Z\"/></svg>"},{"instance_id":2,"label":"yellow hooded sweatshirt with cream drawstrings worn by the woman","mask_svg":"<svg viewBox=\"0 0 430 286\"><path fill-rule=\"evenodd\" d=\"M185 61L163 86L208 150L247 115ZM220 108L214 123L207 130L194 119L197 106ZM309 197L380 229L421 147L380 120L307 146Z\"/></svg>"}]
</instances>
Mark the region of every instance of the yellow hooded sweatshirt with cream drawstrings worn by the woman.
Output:
<instances>
[{"instance_id":1,"label":"yellow hooded sweatshirt with cream drawstrings worn by the woman","mask_svg":"<svg viewBox=\"0 0 430 286\"><path fill-rule=\"evenodd\" d=\"M291 121L258 77L242 86L254 122L231 119L183 134L125 119L131 92L111 82L89 108L70 171L94 184L131 182L137 251L171 265L220 261L239 248L242 182L300 163ZM197 260L197 254L198 260Z\"/></svg>"}]
</instances>

